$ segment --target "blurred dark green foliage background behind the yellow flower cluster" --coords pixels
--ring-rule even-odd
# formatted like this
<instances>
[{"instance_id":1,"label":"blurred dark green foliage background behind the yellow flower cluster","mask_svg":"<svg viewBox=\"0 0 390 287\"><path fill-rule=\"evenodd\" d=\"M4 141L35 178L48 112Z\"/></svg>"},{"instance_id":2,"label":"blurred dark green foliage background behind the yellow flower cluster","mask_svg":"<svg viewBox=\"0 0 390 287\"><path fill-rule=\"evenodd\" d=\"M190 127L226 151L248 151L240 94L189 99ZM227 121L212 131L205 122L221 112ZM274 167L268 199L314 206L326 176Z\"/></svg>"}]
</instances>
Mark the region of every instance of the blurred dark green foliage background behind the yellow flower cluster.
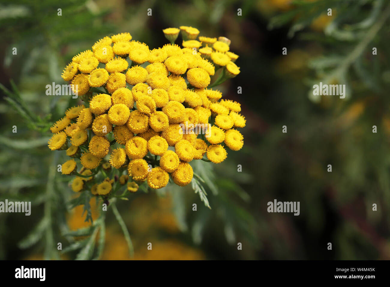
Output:
<instances>
[{"instance_id":1,"label":"blurred dark green foliage background behind the yellow flower cluster","mask_svg":"<svg viewBox=\"0 0 390 287\"><path fill-rule=\"evenodd\" d=\"M69 207L77 194L69 177L57 172L66 156L48 149L50 132L44 131L77 100L46 96L46 85L65 84L60 75L73 55L104 36L130 32L157 48L168 43L162 29L181 25L198 28L200 36L228 37L230 50L240 56L241 73L218 89L242 105L244 147L228 151L221 164L202 164L211 210L191 186L138 191L117 203L134 259L389 259L386 5L381 0L2 2L0 82L11 94L3 93L0 102L0 201L32 201L33 207L31 216L0 214L0 259L74 259L85 237L69 232L90 225L82 206ZM346 84L346 99L310 96L313 83L326 80ZM300 215L268 213L267 202L274 199L300 201ZM100 207L94 199L90 204L96 219ZM112 213L105 228L101 259L130 259ZM58 242L63 249L76 247L60 253Z\"/></svg>"}]
</instances>

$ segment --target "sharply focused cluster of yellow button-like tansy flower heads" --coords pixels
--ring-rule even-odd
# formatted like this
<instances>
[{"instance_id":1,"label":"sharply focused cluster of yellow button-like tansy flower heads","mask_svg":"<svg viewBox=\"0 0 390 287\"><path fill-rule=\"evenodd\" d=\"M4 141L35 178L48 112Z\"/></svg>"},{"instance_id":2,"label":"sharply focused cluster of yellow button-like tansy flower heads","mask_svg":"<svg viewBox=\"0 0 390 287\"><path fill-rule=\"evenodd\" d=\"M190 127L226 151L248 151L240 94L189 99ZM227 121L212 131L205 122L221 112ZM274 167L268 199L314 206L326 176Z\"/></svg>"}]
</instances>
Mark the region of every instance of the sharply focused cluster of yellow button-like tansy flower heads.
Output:
<instances>
[{"instance_id":1,"label":"sharply focused cluster of yellow button-like tansy flower heads","mask_svg":"<svg viewBox=\"0 0 390 287\"><path fill-rule=\"evenodd\" d=\"M242 148L241 105L212 89L240 72L230 40L186 26L163 33L170 44L161 48L129 33L104 37L64 69L62 78L83 103L53 124L48 146L71 157L62 174L76 175L73 191L108 198L117 185L127 184L129 192L142 182L153 189L170 179L185 186L193 178L192 160L218 164L227 148ZM181 46L174 43L180 33ZM203 130L186 133L183 126Z\"/></svg>"}]
</instances>

